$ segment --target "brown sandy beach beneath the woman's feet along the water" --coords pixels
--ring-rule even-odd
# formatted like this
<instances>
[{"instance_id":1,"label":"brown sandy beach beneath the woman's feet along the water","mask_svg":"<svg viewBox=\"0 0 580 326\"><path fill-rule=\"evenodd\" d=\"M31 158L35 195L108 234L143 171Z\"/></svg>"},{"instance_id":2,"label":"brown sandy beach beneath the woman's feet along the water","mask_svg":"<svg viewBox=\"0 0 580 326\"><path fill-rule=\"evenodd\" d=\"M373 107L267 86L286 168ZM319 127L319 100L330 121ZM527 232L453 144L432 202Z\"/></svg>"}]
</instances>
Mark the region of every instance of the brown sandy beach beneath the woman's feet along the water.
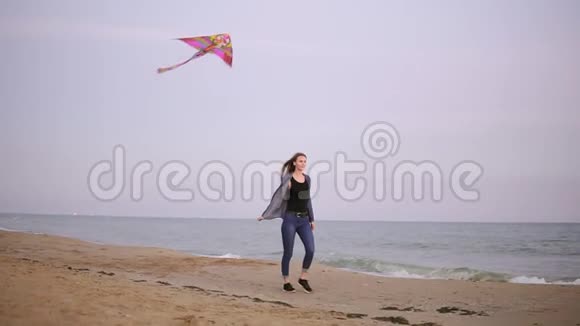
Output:
<instances>
[{"instance_id":1,"label":"brown sandy beach beneath the woman's feet along the water","mask_svg":"<svg viewBox=\"0 0 580 326\"><path fill-rule=\"evenodd\" d=\"M294 257L297 278L302 257ZM580 287L395 279L0 231L0 325L580 325Z\"/></svg>"}]
</instances>

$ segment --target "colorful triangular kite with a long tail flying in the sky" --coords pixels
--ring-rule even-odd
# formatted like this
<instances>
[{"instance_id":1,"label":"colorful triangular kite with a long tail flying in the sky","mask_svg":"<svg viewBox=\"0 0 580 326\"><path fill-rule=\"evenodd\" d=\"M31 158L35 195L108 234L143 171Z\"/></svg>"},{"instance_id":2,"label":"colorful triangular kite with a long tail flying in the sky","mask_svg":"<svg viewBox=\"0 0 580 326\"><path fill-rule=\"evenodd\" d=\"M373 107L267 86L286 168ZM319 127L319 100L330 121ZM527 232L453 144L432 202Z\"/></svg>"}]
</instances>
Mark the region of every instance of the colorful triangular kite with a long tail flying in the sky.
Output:
<instances>
[{"instance_id":1,"label":"colorful triangular kite with a long tail flying in the sky","mask_svg":"<svg viewBox=\"0 0 580 326\"><path fill-rule=\"evenodd\" d=\"M232 42L228 34L179 38L178 40L183 41L189 44L190 46L193 46L199 51L196 52L191 58L183 61L182 63L178 63L170 67L157 69L158 73L166 72L169 70L173 70L177 67L183 66L184 64L190 62L191 60L204 56L210 52L222 58L222 60L226 64L228 64L228 66L230 67L232 66L233 49Z\"/></svg>"}]
</instances>

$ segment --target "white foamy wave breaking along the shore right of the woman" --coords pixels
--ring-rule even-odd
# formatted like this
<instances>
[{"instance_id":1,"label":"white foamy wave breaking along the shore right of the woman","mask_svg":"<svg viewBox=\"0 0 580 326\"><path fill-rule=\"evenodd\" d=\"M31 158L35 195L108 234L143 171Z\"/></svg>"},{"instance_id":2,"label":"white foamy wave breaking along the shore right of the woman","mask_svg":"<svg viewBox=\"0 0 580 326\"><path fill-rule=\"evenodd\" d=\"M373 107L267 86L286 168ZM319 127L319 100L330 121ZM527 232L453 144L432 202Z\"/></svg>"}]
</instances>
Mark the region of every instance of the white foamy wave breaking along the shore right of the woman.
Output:
<instances>
[{"instance_id":1,"label":"white foamy wave breaking along the shore right of the woman","mask_svg":"<svg viewBox=\"0 0 580 326\"><path fill-rule=\"evenodd\" d=\"M468 267L433 268L410 264L400 264L394 262L385 262L371 258L332 257L332 258L319 258L319 261L329 266L383 277L464 280L473 282L509 282L509 283L527 283L527 284L580 285L580 279L576 279L575 281L569 280L546 281L545 278L541 277L513 276L506 273L490 272Z\"/></svg>"}]
</instances>

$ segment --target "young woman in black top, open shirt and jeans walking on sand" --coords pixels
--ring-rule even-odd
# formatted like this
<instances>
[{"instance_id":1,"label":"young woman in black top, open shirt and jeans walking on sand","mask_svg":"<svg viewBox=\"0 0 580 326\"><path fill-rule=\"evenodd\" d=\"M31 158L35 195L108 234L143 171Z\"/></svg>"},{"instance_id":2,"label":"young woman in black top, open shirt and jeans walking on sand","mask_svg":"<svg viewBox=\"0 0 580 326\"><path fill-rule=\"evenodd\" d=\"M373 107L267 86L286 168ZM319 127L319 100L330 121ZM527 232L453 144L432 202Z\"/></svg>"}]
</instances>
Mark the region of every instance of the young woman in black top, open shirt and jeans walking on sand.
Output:
<instances>
[{"instance_id":1,"label":"young woman in black top, open shirt and jeans walking on sand","mask_svg":"<svg viewBox=\"0 0 580 326\"><path fill-rule=\"evenodd\" d=\"M283 289L286 292L296 290L290 283L290 259L294 249L296 233L304 244L304 260L302 261L302 274L298 284L306 293L312 292L308 283L308 269L314 257L314 213L310 200L310 177L304 174L306 168L306 155L296 153L282 166L282 183L274 192L270 204L258 217L258 221L282 218L282 277L284 278Z\"/></svg>"}]
</instances>

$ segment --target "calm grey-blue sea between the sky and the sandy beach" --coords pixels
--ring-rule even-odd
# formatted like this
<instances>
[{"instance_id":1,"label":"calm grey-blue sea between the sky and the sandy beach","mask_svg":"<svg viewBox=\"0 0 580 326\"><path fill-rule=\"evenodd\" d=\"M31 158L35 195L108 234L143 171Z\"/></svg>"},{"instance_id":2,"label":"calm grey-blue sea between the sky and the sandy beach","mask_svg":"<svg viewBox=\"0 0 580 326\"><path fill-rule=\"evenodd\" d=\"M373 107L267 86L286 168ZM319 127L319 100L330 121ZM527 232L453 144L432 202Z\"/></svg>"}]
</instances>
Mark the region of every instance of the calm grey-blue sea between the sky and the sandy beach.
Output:
<instances>
[{"instance_id":1,"label":"calm grey-blue sea between the sky and the sandy beach","mask_svg":"<svg viewBox=\"0 0 580 326\"><path fill-rule=\"evenodd\" d=\"M0 229L280 261L282 220L0 214ZM384 277L580 285L580 224L317 221L314 263ZM296 237L293 261L304 247Z\"/></svg>"}]
</instances>

